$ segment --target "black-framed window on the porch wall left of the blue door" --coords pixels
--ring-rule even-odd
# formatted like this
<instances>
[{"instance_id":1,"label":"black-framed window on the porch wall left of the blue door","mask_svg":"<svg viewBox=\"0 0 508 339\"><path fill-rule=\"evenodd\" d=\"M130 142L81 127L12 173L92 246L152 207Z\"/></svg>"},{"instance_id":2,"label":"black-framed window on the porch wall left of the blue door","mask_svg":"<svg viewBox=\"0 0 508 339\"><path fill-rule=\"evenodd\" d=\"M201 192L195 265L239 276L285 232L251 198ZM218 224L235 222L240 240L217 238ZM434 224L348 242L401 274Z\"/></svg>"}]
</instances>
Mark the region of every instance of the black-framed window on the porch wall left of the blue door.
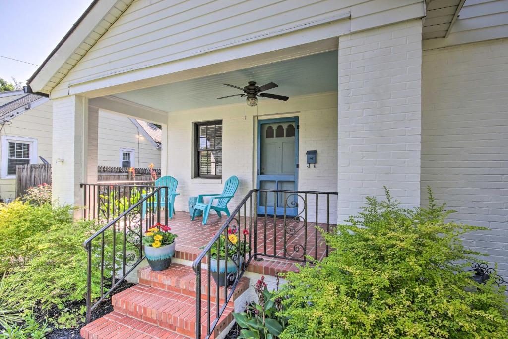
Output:
<instances>
[{"instance_id":1,"label":"black-framed window on the porch wall left of the blue door","mask_svg":"<svg viewBox=\"0 0 508 339\"><path fill-rule=\"evenodd\" d=\"M222 138L222 120L196 122L196 177L222 176Z\"/></svg>"}]
</instances>

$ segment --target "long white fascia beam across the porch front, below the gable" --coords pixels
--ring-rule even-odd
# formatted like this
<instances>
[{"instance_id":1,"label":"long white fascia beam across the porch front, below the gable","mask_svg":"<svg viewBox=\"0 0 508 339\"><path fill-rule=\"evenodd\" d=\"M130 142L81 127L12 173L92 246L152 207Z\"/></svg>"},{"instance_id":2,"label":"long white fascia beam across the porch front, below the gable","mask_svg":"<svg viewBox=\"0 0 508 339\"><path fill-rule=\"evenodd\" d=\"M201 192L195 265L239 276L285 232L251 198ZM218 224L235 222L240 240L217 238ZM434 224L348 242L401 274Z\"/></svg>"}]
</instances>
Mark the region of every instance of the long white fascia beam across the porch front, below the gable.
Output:
<instances>
[{"instance_id":1,"label":"long white fascia beam across the porch front, below the gable","mask_svg":"<svg viewBox=\"0 0 508 339\"><path fill-rule=\"evenodd\" d=\"M224 46L215 50L189 55L164 64L140 65L138 69L102 76L97 79L85 79L76 83L60 82L51 92L51 98L80 94L86 97L98 97L120 93L121 91L151 87L163 83L199 78L211 74L230 72L270 62L291 59L314 53L336 49L338 37L350 33L350 12L334 16L331 22L311 26L299 25L298 30L283 31L264 39L246 41L237 45ZM314 50L306 52L305 46ZM315 48L320 46L321 48ZM323 47L324 46L324 47ZM299 51L303 49L303 51ZM291 50L291 54L286 51ZM264 54L274 53L273 60L267 61ZM245 60L242 58L251 58ZM223 63L223 65L220 65ZM229 63L224 67L226 63ZM134 84L134 82L137 82ZM113 87L118 86L118 87ZM109 87L109 88L108 88ZM93 91L93 92L92 92Z\"/></svg>"}]
</instances>

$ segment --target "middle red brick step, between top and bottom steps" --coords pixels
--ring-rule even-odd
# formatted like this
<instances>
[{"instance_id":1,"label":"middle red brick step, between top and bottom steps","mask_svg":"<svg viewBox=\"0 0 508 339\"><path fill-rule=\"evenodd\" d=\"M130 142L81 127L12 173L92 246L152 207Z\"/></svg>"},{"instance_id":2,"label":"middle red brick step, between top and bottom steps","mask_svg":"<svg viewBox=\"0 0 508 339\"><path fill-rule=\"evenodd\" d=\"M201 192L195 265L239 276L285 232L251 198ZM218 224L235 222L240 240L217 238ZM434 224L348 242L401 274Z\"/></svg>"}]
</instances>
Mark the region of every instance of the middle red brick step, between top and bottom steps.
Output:
<instances>
[{"instance_id":1,"label":"middle red brick step, between top and bottom steps","mask_svg":"<svg viewBox=\"0 0 508 339\"><path fill-rule=\"evenodd\" d=\"M111 298L113 310L171 331L195 337L196 298L193 296L139 284L119 292ZM215 303L211 302L211 322L215 317ZM233 321L233 307L228 305L214 329L214 335ZM202 300L200 323L206 333L207 301Z\"/></svg>"}]
</instances>

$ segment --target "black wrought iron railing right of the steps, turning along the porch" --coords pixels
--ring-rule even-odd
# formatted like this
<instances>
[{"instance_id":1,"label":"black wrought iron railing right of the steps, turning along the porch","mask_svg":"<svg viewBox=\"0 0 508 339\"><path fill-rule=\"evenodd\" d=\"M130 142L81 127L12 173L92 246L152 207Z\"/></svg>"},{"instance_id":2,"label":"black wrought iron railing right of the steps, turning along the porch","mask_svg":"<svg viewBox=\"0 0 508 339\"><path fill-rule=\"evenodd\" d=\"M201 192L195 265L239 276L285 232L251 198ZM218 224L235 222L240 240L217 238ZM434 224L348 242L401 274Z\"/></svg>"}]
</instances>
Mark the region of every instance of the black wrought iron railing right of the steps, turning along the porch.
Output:
<instances>
[{"instance_id":1,"label":"black wrought iron railing right of the steps, turning along the porch","mask_svg":"<svg viewBox=\"0 0 508 339\"><path fill-rule=\"evenodd\" d=\"M252 259L305 262L328 256L328 245L317 228L324 232L333 230L336 208L331 206L335 205L336 197L337 192L256 189L247 193L193 263L196 338L202 334L206 338L211 336ZM229 239L230 233L235 237ZM235 240L236 244L232 244ZM226 252L221 255L221 241L232 250L228 255ZM206 301L203 305L202 298ZM206 315L204 321L202 315Z\"/></svg>"}]
</instances>

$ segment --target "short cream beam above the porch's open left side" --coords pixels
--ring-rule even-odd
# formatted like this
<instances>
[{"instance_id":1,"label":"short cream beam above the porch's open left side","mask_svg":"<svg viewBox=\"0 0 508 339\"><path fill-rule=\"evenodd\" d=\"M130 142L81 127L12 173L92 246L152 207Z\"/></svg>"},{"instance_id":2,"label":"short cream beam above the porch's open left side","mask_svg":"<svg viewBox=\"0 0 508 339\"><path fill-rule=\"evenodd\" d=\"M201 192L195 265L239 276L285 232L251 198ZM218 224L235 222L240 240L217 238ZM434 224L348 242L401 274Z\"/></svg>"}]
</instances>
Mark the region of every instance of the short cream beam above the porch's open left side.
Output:
<instances>
[{"instance_id":1,"label":"short cream beam above the porch's open left side","mask_svg":"<svg viewBox=\"0 0 508 339\"><path fill-rule=\"evenodd\" d=\"M136 104L129 100L107 96L90 99L88 100L88 105L114 112L116 114L127 115L129 117L135 117L145 121L153 121L156 124L168 123L167 112Z\"/></svg>"}]
</instances>

